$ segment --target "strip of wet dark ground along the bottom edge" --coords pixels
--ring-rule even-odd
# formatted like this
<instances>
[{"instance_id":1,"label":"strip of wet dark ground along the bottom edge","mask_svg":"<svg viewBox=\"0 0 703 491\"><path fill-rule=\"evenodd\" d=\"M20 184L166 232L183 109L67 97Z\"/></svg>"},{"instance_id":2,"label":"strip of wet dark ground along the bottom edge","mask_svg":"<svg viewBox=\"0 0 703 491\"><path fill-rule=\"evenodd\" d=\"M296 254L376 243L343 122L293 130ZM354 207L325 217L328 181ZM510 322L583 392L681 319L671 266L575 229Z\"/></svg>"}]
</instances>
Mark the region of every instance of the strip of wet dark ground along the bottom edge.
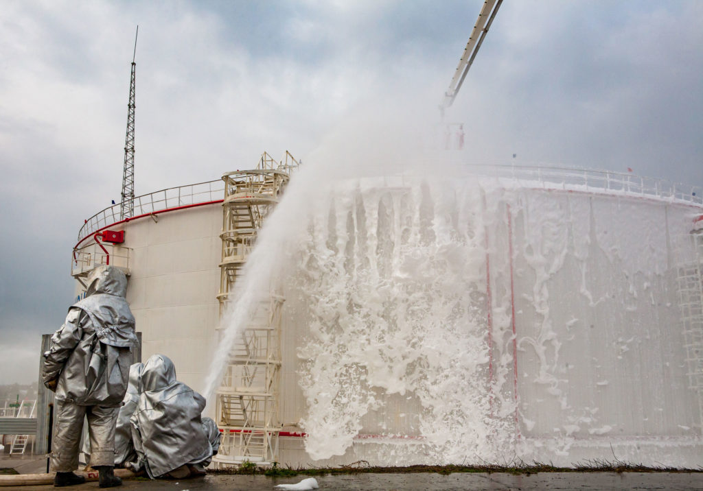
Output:
<instances>
[{"instance_id":1,"label":"strip of wet dark ground along the bottom edge","mask_svg":"<svg viewBox=\"0 0 703 491\"><path fill-rule=\"evenodd\" d=\"M275 490L277 484L298 483L307 476L209 475L192 480L126 480L122 490ZM703 473L538 473L513 476L508 473L354 474L317 476L320 490L701 490ZM12 488L8 488L12 489ZM51 490L50 485L25 486L21 490ZM66 490L98 489L98 483L65 487Z\"/></svg>"}]
</instances>

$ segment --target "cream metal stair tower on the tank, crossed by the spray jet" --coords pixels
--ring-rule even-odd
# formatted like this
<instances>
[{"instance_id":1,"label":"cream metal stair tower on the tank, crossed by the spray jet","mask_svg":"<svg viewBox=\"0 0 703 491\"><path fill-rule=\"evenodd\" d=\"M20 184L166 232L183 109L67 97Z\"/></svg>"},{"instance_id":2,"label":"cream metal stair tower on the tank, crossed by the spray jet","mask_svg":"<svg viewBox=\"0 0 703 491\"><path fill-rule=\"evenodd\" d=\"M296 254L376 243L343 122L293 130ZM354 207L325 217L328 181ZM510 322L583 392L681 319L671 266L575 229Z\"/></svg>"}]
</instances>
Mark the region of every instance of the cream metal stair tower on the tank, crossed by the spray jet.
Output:
<instances>
[{"instance_id":1,"label":"cream metal stair tower on the tank, crossed by the spray jet","mask_svg":"<svg viewBox=\"0 0 703 491\"><path fill-rule=\"evenodd\" d=\"M238 279L254 247L257 233L278 203L290 171L299 165L289 152L279 163L264 152L256 169L225 174L220 263L219 331L236 298ZM278 385L280 381L280 317L283 297L271 292L257 301L252 319L234 341L221 386L216 391L217 426L223 431L216 467L250 461L276 461Z\"/></svg>"}]
</instances>

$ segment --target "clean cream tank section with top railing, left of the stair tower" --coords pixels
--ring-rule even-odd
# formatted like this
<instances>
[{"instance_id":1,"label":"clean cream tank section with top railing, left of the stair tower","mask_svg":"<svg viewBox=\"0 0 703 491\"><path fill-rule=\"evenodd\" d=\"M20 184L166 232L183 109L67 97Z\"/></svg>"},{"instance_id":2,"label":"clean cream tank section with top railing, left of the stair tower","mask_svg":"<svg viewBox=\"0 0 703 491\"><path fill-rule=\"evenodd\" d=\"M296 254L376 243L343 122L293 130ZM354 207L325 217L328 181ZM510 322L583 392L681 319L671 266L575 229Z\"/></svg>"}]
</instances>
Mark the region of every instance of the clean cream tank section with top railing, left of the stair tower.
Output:
<instances>
[{"instance_id":1,"label":"clean cream tank section with top railing, left of the stair tower","mask_svg":"<svg viewBox=\"0 0 703 491\"><path fill-rule=\"evenodd\" d=\"M119 204L105 209L84 223L72 260L73 275L108 261L123 268L142 359L169 356L179 380L196 391L203 390L217 339L223 189L218 180L137 197L127 221ZM124 230L124 242L98 237L101 247L98 230ZM77 295L82 291L77 282Z\"/></svg>"}]
</instances>

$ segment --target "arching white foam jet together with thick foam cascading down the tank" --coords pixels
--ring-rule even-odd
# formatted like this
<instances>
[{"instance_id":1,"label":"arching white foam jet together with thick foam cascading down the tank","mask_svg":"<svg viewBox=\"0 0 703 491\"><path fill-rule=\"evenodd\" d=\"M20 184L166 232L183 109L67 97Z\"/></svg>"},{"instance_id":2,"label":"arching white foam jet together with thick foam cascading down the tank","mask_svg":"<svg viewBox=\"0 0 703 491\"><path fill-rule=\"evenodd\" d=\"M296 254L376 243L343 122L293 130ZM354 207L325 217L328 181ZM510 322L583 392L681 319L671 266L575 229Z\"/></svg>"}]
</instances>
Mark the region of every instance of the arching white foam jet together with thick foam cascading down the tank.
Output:
<instances>
[{"instance_id":1,"label":"arching white foam jet together with thick foam cascading down the tank","mask_svg":"<svg viewBox=\"0 0 703 491\"><path fill-rule=\"evenodd\" d=\"M389 133L387 122L349 126L305 159L313 164L266 219L205 395L221 381L257 302L287 284L302 296L310 332L299 383L311 457L343 454L366 414L408 394L418 402L408 432L432 445L435 461L457 461L466 454L451 447L465 452L460 443L471 442L477 452L508 434L498 431L505 417L486 420L489 405L503 415L515 407L499 384L491 398L485 373L484 223L467 216L482 190L476 181L423 180L428 166L444 163L410 144L420 138ZM363 137L356 126L366 128ZM398 174L400 181L361 177Z\"/></svg>"}]
</instances>

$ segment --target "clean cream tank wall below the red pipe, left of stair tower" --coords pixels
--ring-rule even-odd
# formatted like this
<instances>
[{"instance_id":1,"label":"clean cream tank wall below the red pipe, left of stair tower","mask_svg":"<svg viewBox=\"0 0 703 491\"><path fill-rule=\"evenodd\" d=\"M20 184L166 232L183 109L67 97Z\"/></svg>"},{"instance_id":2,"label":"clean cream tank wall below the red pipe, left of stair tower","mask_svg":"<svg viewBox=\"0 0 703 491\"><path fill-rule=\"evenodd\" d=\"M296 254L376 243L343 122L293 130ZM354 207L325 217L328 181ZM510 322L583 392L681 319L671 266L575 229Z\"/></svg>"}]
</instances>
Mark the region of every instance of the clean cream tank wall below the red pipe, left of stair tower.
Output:
<instances>
[{"instance_id":1,"label":"clean cream tank wall below the red pipe, left of stair tower","mask_svg":"<svg viewBox=\"0 0 703 491\"><path fill-rule=\"evenodd\" d=\"M124 230L124 243L105 244L110 263L129 271L127 301L142 333L142 360L167 355L179 380L196 391L204 388L217 339L221 227L221 204L205 204L109 227ZM94 242L86 243L89 252L78 257L104 263Z\"/></svg>"}]
</instances>

